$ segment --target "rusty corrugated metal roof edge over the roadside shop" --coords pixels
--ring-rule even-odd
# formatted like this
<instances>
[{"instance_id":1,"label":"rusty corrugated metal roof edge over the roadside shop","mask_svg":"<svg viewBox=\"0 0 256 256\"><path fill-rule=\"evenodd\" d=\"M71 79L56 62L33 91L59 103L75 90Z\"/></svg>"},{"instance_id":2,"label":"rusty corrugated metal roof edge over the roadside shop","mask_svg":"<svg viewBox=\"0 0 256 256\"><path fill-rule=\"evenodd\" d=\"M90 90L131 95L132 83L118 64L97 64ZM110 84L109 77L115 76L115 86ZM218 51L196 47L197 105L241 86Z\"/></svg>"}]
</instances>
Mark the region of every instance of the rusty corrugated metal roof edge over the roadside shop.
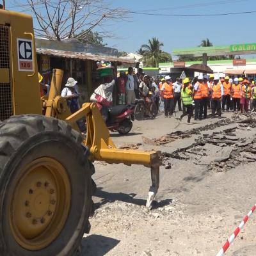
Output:
<instances>
[{"instance_id":1,"label":"rusty corrugated metal roof edge over the roadside shop","mask_svg":"<svg viewBox=\"0 0 256 256\"><path fill-rule=\"evenodd\" d=\"M120 61L122 63L136 63L134 60L118 58L114 56L91 54L87 52L70 52L70 51L59 51L52 49L36 48L37 54L44 54L49 56L58 56L62 58L80 59L80 60L94 60L94 61Z\"/></svg>"}]
</instances>

